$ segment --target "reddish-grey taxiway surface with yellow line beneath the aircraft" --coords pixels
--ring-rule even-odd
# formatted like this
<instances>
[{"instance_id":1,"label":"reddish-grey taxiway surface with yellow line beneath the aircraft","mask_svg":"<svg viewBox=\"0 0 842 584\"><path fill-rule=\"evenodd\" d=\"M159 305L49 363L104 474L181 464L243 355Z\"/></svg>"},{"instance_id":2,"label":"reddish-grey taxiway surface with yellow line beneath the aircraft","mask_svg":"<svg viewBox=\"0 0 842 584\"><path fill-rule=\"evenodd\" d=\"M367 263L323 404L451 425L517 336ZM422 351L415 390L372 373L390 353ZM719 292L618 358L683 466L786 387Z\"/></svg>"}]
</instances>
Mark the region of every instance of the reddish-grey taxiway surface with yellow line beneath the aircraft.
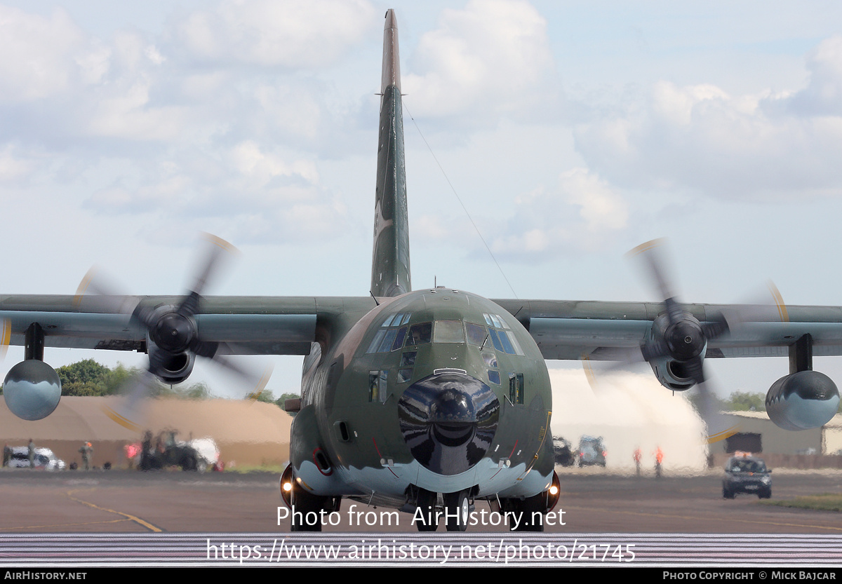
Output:
<instances>
[{"instance_id":1,"label":"reddish-grey taxiway surface with yellow line beneath the aircraft","mask_svg":"<svg viewBox=\"0 0 842 584\"><path fill-rule=\"evenodd\" d=\"M842 534L836 512L775 507L755 496L723 499L720 471L656 479L566 470L561 480L557 524L546 528L552 533ZM842 492L839 471L776 470L773 481L773 501ZM3 470L0 494L0 534L290 530L288 519L279 524L278 475L270 473ZM477 502L477 512L482 510L487 503ZM324 531L416 531L408 513L400 513L397 524L389 525L386 516L381 521L380 513L391 511L343 501L338 525ZM354 513L361 514L354 519ZM470 529L508 531L488 523Z\"/></svg>"}]
</instances>

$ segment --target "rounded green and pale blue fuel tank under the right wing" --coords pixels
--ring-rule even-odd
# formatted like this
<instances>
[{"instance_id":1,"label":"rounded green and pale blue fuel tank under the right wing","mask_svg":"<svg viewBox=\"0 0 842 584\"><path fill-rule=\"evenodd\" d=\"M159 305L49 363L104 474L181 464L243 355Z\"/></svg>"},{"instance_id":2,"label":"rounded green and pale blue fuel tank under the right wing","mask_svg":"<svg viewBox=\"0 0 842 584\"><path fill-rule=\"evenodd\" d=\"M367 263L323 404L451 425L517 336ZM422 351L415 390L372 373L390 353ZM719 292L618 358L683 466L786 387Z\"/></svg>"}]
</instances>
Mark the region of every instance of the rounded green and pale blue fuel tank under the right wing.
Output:
<instances>
[{"instance_id":1,"label":"rounded green and pale blue fuel tank under the right wing","mask_svg":"<svg viewBox=\"0 0 842 584\"><path fill-rule=\"evenodd\" d=\"M827 375L799 371L775 381L766 394L766 413L786 430L820 427L839 408L839 390Z\"/></svg>"}]
</instances>

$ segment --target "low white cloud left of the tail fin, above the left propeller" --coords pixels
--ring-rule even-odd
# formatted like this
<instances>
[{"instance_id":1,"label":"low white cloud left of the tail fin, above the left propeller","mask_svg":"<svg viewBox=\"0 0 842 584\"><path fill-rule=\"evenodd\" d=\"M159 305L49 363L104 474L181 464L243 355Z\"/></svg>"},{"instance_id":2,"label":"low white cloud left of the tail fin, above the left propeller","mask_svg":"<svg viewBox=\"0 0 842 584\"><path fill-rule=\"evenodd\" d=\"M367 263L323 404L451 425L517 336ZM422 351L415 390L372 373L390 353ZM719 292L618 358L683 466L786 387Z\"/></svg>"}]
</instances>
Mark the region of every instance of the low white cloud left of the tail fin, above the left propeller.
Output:
<instances>
[{"instance_id":1,"label":"low white cloud left of the tail fin, above the left propeller","mask_svg":"<svg viewBox=\"0 0 842 584\"><path fill-rule=\"evenodd\" d=\"M169 229L214 231L244 243L329 241L347 231L347 210L319 184L316 162L253 141L204 156L179 153L132 174L84 205L107 215L147 215L151 241Z\"/></svg>"}]
</instances>

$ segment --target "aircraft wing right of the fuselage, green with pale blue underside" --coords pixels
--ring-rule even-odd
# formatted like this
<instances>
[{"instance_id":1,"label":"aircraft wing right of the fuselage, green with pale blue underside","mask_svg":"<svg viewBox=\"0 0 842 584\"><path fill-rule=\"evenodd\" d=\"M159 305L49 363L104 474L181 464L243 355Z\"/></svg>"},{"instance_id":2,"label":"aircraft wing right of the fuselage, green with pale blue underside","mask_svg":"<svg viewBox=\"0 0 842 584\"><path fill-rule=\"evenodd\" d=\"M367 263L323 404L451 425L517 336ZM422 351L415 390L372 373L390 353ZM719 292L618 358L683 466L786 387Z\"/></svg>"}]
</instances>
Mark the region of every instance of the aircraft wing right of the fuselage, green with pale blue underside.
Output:
<instances>
[{"instance_id":1,"label":"aircraft wing right of the fuselage, green with pale blue underside","mask_svg":"<svg viewBox=\"0 0 842 584\"><path fill-rule=\"evenodd\" d=\"M623 360L651 335L662 303L493 300L521 321L546 359ZM706 358L790 355L809 335L814 356L842 355L842 306L682 304L702 326L724 316L730 330L707 341ZM651 337L650 337L651 338Z\"/></svg>"}]
</instances>

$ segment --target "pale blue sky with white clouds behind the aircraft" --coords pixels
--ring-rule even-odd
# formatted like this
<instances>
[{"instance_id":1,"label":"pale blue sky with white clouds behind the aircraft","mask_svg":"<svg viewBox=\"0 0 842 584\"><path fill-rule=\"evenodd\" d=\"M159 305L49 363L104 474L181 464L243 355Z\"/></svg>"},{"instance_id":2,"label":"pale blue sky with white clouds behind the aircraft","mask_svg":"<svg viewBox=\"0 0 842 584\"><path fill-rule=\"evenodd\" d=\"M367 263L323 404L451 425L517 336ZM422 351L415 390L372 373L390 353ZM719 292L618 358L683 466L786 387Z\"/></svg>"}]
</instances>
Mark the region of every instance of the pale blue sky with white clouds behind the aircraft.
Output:
<instances>
[{"instance_id":1,"label":"pale blue sky with white clouds behind the aircraft","mask_svg":"<svg viewBox=\"0 0 842 584\"><path fill-rule=\"evenodd\" d=\"M668 237L682 300L842 304L838 3L123 4L0 3L8 293L177 294L210 231L212 293L366 295L395 8L416 287L512 296L449 181L521 298L658 300L624 254ZM786 374L756 361L722 391Z\"/></svg>"}]
</instances>

